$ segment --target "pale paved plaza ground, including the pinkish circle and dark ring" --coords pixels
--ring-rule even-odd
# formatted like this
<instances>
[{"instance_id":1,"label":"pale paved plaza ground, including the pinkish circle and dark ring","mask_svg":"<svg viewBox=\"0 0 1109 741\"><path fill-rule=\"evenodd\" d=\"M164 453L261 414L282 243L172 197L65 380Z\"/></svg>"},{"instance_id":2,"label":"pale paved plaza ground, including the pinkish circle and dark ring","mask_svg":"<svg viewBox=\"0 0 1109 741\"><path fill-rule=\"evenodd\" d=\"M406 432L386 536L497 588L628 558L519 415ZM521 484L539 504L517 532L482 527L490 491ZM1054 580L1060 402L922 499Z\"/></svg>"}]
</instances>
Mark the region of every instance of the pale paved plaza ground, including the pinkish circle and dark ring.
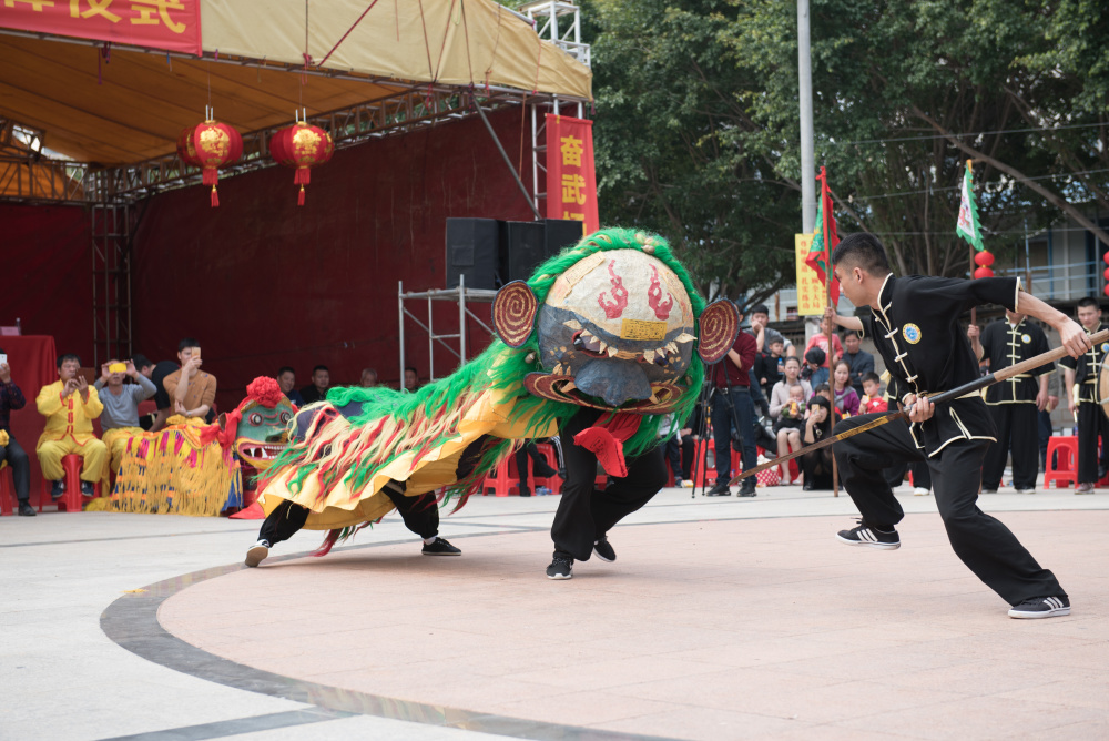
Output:
<instances>
[{"instance_id":1,"label":"pale paved plaza ground, including the pinkish circle and dark ring","mask_svg":"<svg viewBox=\"0 0 1109 741\"><path fill-rule=\"evenodd\" d=\"M472 499L459 558L390 516L258 569L257 521L0 518L0 739L1109 738L1109 491L981 497L1071 596L1035 621L899 498L877 551L846 496L667 489L570 581L557 497Z\"/></svg>"}]
</instances>

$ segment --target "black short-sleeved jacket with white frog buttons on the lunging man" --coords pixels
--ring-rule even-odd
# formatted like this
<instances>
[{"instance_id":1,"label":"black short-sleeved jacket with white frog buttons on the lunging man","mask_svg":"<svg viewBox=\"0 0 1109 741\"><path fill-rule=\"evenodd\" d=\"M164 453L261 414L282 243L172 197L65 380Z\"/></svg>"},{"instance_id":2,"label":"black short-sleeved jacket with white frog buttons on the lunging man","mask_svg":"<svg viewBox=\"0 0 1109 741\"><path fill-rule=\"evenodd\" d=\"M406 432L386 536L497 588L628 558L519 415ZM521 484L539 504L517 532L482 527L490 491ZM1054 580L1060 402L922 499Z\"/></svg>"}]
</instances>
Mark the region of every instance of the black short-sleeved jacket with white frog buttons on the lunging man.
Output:
<instances>
[{"instance_id":1,"label":"black short-sleeved jacket with white frog buttons on the lunging man","mask_svg":"<svg viewBox=\"0 0 1109 741\"><path fill-rule=\"evenodd\" d=\"M878 292L878 308L862 318L863 333L898 379L899 390L935 396L979 375L959 316L986 303L1016 312L1019 292L1019 278L965 281L889 274ZM936 407L932 419L910 425L909 432L928 456L955 441L996 439L994 422L978 393Z\"/></svg>"}]
</instances>

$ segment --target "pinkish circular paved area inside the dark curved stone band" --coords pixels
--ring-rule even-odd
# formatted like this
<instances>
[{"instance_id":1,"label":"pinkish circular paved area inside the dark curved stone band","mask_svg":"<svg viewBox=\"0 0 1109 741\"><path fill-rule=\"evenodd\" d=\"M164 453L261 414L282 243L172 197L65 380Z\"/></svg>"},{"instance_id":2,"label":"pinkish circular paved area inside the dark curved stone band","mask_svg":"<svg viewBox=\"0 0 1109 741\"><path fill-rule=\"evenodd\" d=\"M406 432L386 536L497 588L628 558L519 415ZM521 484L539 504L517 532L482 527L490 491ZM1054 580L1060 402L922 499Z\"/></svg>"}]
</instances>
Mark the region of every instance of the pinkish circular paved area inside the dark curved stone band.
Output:
<instances>
[{"instance_id":1,"label":"pinkish circular paved area inside the dark curved stone band","mask_svg":"<svg viewBox=\"0 0 1109 741\"><path fill-rule=\"evenodd\" d=\"M934 514L897 551L842 517L619 527L615 564L542 576L543 532L272 562L159 613L212 653L313 682L680 739L1109 734L1109 512L1007 512L1075 613L1011 620ZM373 538L374 534L364 534ZM297 544L303 545L303 544Z\"/></svg>"}]
</instances>

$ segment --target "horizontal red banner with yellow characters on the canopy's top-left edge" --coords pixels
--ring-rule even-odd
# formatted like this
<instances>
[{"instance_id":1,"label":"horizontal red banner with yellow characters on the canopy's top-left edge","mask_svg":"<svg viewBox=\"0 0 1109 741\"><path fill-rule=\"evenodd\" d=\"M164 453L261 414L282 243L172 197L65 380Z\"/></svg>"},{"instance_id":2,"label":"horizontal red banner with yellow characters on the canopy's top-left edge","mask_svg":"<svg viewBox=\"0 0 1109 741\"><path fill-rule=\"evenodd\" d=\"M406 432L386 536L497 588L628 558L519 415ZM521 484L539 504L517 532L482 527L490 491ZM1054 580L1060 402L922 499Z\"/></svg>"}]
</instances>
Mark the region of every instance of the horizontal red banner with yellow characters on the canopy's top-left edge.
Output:
<instances>
[{"instance_id":1,"label":"horizontal red banner with yellow characters on the canopy's top-left edge","mask_svg":"<svg viewBox=\"0 0 1109 741\"><path fill-rule=\"evenodd\" d=\"M201 55L201 0L0 0L0 27Z\"/></svg>"}]
</instances>

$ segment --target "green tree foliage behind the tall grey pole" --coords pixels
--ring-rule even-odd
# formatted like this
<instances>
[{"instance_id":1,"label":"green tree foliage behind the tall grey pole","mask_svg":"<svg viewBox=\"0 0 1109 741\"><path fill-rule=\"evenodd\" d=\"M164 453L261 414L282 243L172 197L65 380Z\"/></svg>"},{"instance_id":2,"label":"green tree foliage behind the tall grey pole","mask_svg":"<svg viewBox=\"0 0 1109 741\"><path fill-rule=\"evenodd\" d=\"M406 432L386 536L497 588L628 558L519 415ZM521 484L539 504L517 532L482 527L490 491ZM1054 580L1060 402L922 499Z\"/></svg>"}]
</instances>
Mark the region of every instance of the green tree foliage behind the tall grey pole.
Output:
<instances>
[{"instance_id":1,"label":"green tree foliage behind the tall grey pole","mask_svg":"<svg viewBox=\"0 0 1109 741\"><path fill-rule=\"evenodd\" d=\"M987 247L1109 209L1109 20L1092 0L812 1L816 164L841 232L901 273L960 275L975 161ZM793 282L796 3L592 0L602 217L665 234L756 301ZM1087 205L1083 205L1087 204Z\"/></svg>"}]
</instances>

